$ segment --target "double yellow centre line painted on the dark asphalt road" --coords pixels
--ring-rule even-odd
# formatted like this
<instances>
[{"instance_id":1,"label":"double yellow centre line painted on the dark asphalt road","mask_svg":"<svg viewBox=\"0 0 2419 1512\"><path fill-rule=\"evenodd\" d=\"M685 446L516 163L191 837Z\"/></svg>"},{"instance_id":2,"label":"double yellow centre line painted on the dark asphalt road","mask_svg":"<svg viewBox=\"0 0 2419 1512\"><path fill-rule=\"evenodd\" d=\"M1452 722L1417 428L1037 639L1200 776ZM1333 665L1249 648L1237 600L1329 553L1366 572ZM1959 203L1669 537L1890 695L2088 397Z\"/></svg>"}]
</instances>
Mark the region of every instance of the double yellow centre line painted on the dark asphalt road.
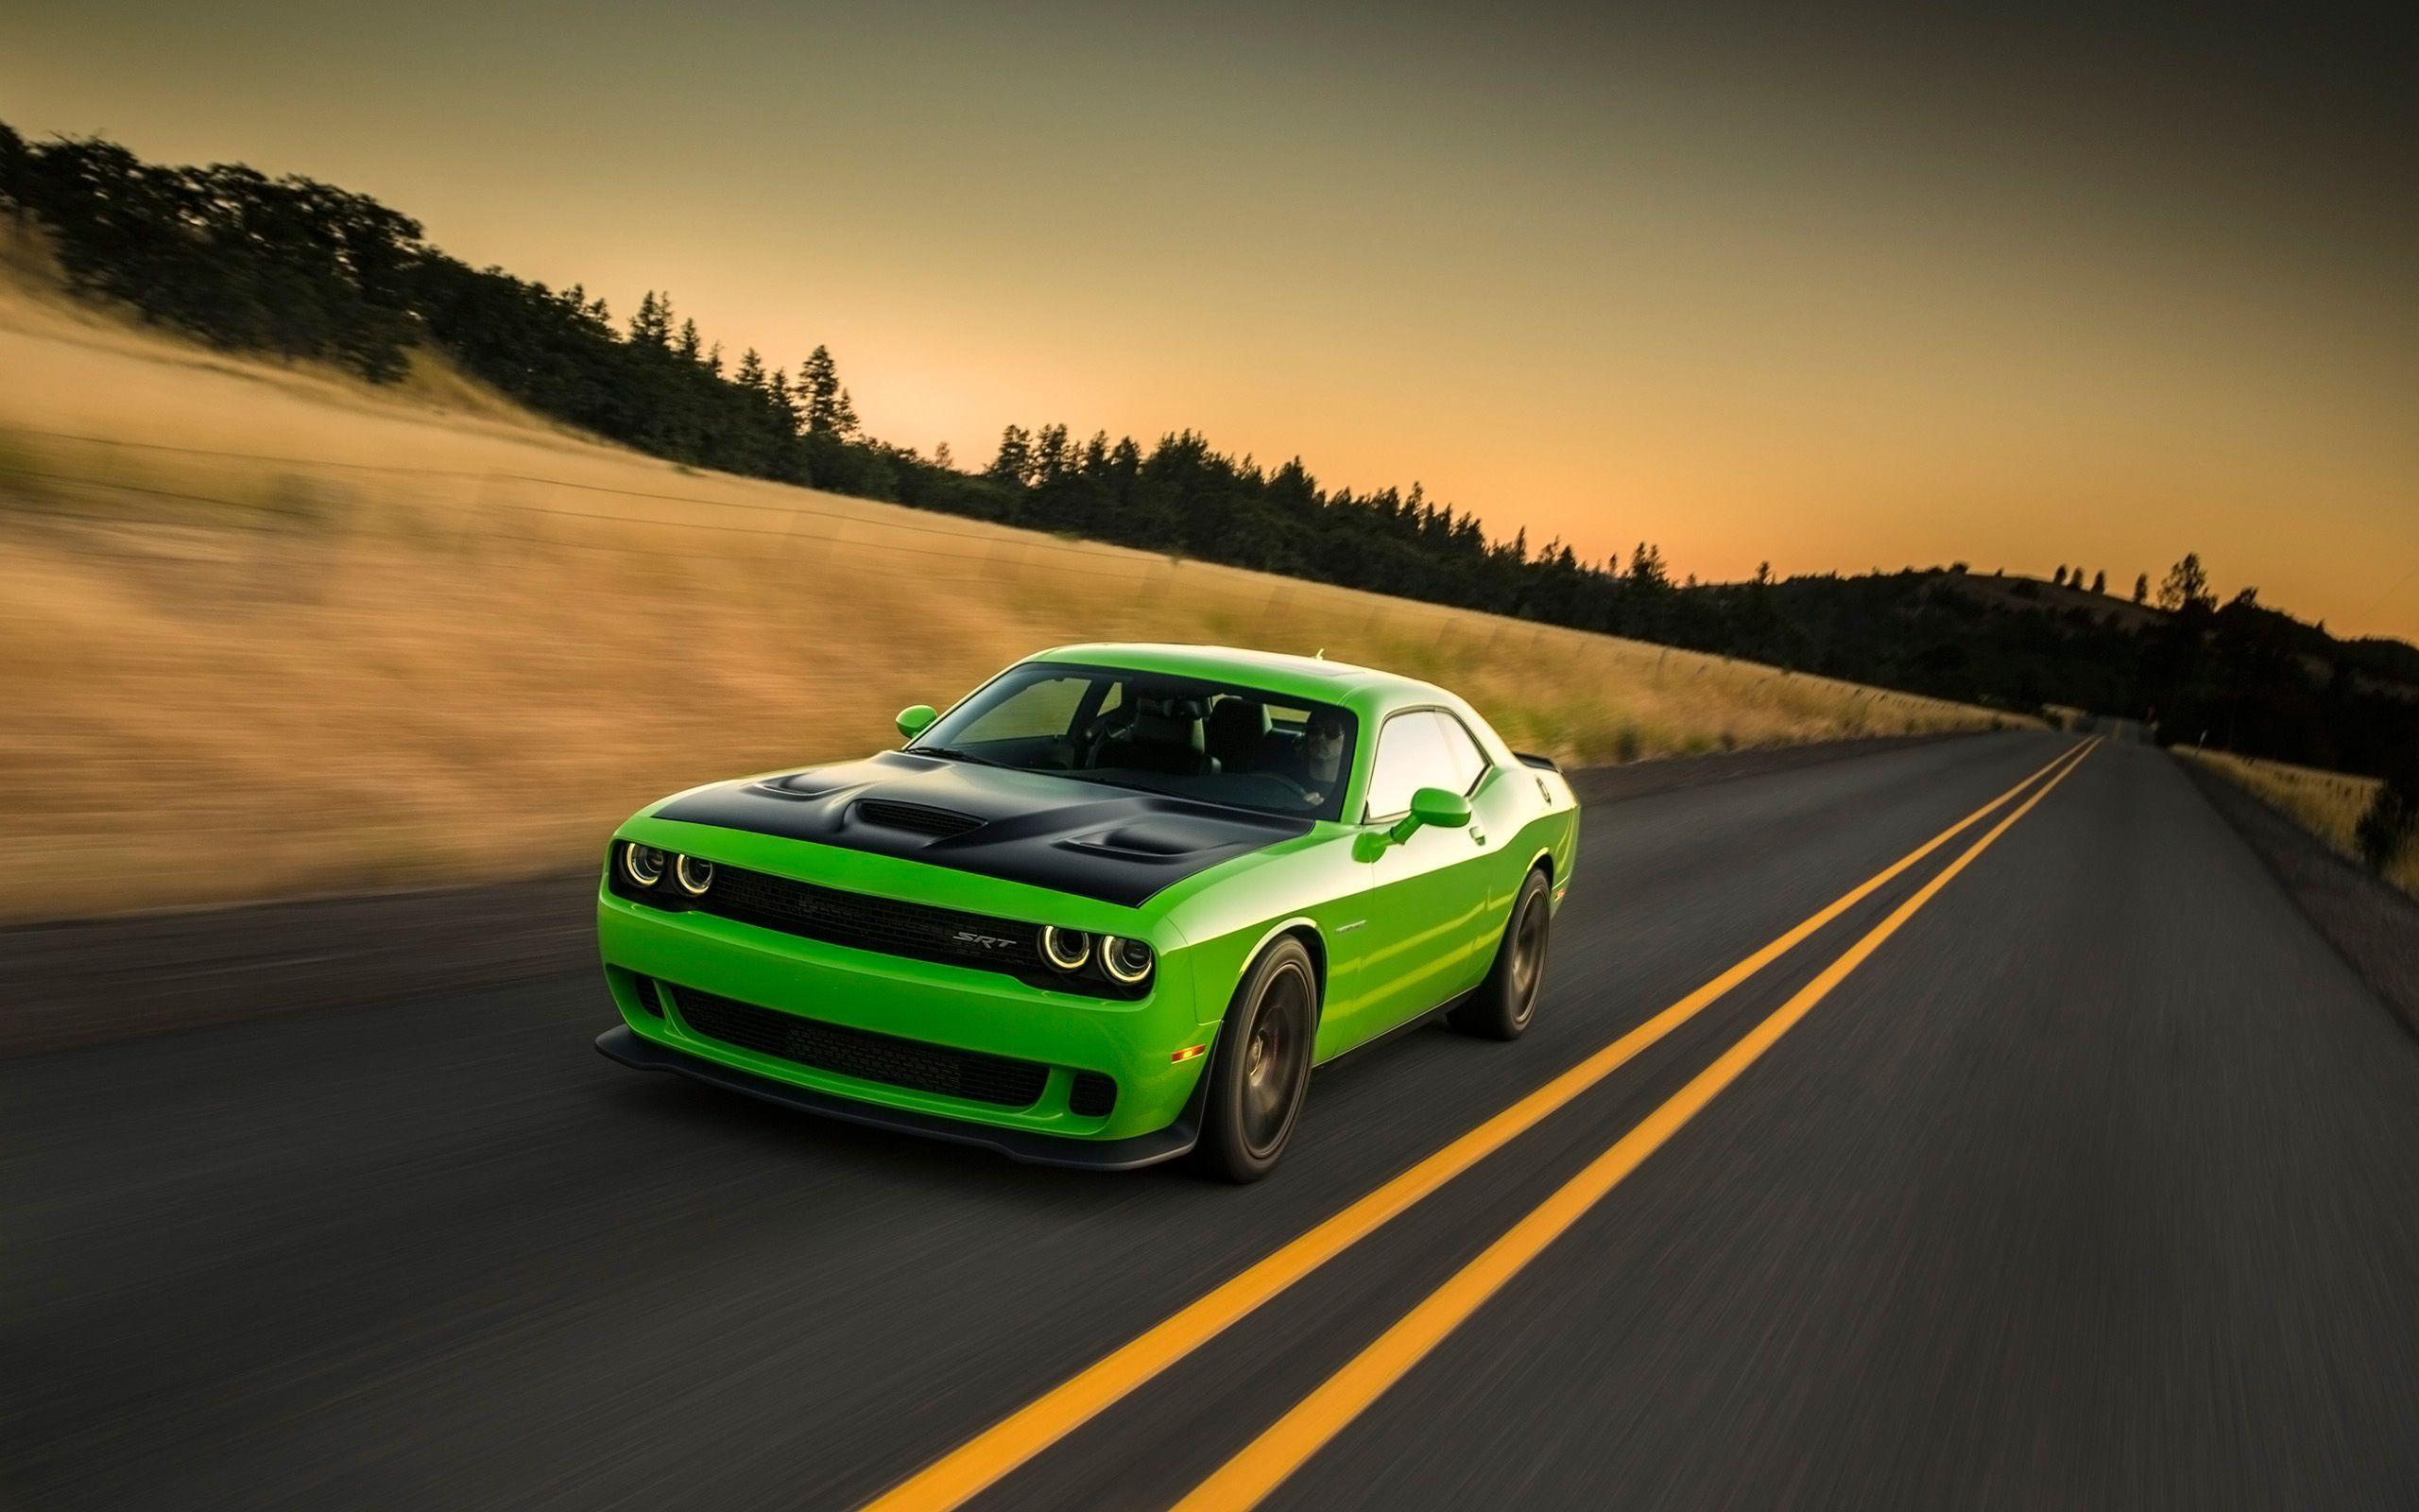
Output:
<instances>
[{"instance_id":1,"label":"double yellow centre line painted on the dark asphalt road","mask_svg":"<svg viewBox=\"0 0 2419 1512\"><path fill-rule=\"evenodd\" d=\"M1967 847L1955 861L1950 861L1930 883L1916 890L1906 902L1901 902L1882 924L1877 924L1860 941L1848 946L1848 951L1826 965L1812 982L1807 982L1788 1004L1783 1004L1771 1018L1759 1023L1737 1045L1725 1050L1710 1067L1705 1067L1688 1086L1684 1086L1672 1101L1650 1113L1645 1123L1623 1135L1611 1149L1597 1156L1580 1176L1563 1185L1553 1198L1538 1205L1529 1217L1505 1231L1493 1246L1485 1248L1476 1260L1471 1260L1461 1272L1456 1272L1444 1287L1432 1292L1410 1314L1403 1316L1393 1328L1379 1335L1367 1350L1362 1350L1350 1364L1335 1372L1323 1386L1306 1396L1292 1413L1280 1418L1268 1432L1253 1439L1241 1454L1236 1454L1214 1476L1202 1481L1200 1488L1185 1497L1185 1507L1243 1507L1258 1502L1263 1495L1275 1490L1287 1476L1294 1473L1321 1444L1333 1439L1352 1418L1357 1418L1379 1393L1398 1381L1413 1364L1420 1362L1454 1326L1468 1318L1488 1297L1493 1297L1522 1265L1536 1258L1555 1236L1570 1229L1604 1193L1621 1183L1623 1176L1638 1168L1664 1139L1672 1137L1698 1108L1710 1103L1730 1081L1739 1077L1763 1050L1773 1045L1783 1033L1790 1031L1807 1011L1814 1009L1831 989L1855 970L1882 941L1899 931L1909 917L1916 914L1926 902L1930 902L1940 888L1950 883L1959 871L1964 871L1974 856L1979 856L1991 842L2008 832L2015 820L2025 818L2034 803L2039 803L2049 789L2059 786L2068 772L2073 772L2085 755L2090 755L2097 740L2088 740L2076 750L2066 750L2013 789L1991 798L1967 818L1957 820L1940 835L1918 844L1909 854L1899 856L1875 876L1865 878L1834 902L1829 902L1817 914L1807 917L1802 924L1788 934L1773 939L1768 946L1747 956L1722 975L1713 977L1688 997L1679 999L1662 1014L1655 1014L1630 1033L1621 1035L1604 1050L1597 1050L1580 1064L1570 1067L1560 1077L1546 1081L1522 1101L1512 1103L1495 1118L1480 1123L1471 1132L1461 1135L1444 1149L1430 1154L1420 1164L1410 1166L1393 1181L1379 1185L1369 1195L1359 1198L1338 1214L1323 1219L1314 1229L1280 1246L1263 1260L1253 1263L1248 1270L1239 1272L1234 1280L1207 1292L1197 1302L1183 1306L1166 1321L1144 1331L1135 1340L1120 1345L1118 1350L1103 1355L1079 1374L1069 1377L1060 1386L1033 1398L1016 1413L1009 1413L992 1427L982 1430L965 1444L951 1449L934 1464L924 1466L890 1493L871 1502L871 1510L897 1512L905 1507L958 1507L968 1497L977 1495L1016 1466L1026 1464L1050 1444L1060 1442L1093 1415L1125 1398L1130 1391L1168 1369L1200 1345L1217 1338L1229 1323L1260 1309L1265 1302L1292 1287L1304 1275L1314 1272L1318 1265L1328 1263L1355 1241L1364 1239L1379 1229L1386 1219L1413 1207L1420 1198L1434 1193L1439 1185L1468 1171L1473 1164L1488 1154L1502 1149L1507 1142L1522 1132L1536 1127L1543 1118L1584 1093L1589 1086L1604 1081L1613 1069L1633 1060L1638 1052L1647 1050L1674 1028L1701 1014L1705 1006L1725 997L1732 987L1756 975L1792 946L1819 931L1831 919L1841 917L1875 890L1884 888L1892 878L1916 866L1928 854L1974 827L1998 808L2017 798L2027 786L2039 781L2044 774L2056 769L2049 781L2025 798L2013 813L2008 813L1998 825L1993 825L1981 839Z\"/></svg>"}]
</instances>

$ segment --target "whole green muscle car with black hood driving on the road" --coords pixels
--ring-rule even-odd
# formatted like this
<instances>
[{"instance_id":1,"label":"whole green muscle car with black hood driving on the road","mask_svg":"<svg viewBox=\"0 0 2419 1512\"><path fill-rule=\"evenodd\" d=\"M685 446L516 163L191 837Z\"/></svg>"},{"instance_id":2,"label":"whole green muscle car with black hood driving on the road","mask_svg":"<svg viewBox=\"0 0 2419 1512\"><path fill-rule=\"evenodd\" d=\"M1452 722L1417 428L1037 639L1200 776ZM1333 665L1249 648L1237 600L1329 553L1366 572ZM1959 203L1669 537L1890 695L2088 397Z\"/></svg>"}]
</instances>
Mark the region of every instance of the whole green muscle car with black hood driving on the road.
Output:
<instances>
[{"instance_id":1,"label":"whole green muscle car with black hood driving on the road","mask_svg":"<svg viewBox=\"0 0 2419 1512\"><path fill-rule=\"evenodd\" d=\"M1311 1067L1529 1028L1580 810L1454 694L1062 646L605 854L605 1055L1026 1161L1265 1176Z\"/></svg>"}]
</instances>

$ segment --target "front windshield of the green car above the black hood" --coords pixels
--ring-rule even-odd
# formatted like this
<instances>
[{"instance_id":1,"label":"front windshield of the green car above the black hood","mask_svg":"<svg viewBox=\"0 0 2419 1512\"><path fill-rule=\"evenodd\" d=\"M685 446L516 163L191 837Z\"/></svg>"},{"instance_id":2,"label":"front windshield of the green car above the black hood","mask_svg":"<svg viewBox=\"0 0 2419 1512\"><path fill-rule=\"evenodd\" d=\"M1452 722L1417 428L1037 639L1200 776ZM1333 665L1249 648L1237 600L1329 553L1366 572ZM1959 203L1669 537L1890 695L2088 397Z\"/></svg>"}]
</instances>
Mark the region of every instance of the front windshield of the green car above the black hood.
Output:
<instances>
[{"instance_id":1,"label":"front windshield of the green car above the black hood","mask_svg":"<svg viewBox=\"0 0 2419 1512\"><path fill-rule=\"evenodd\" d=\"M1333 820L1357 721L1258 687L1028 660L907 750Z\"/></svg>"}]
</instances>

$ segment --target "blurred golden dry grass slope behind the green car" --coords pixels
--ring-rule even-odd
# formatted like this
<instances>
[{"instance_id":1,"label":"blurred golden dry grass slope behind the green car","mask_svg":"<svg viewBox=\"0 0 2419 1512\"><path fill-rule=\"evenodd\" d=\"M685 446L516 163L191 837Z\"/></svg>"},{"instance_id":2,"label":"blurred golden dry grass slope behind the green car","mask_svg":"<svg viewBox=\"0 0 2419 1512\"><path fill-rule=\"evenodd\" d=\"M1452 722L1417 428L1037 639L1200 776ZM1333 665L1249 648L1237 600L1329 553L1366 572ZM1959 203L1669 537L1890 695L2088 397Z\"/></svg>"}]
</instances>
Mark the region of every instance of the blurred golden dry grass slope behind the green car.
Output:
<instances>
[{"instance_id":1,"label":"blurred golden dry grass slope behind the green car","mask_svg":"<svg viewBox=\"0 0 2419 1512\"><path fill-rule=\"evenodd\" d=\"M0 283L0 919L578 866L1076 639L1326 648L1572 762L2020 723L779 484Z\"/></svg>"}]
</instances>

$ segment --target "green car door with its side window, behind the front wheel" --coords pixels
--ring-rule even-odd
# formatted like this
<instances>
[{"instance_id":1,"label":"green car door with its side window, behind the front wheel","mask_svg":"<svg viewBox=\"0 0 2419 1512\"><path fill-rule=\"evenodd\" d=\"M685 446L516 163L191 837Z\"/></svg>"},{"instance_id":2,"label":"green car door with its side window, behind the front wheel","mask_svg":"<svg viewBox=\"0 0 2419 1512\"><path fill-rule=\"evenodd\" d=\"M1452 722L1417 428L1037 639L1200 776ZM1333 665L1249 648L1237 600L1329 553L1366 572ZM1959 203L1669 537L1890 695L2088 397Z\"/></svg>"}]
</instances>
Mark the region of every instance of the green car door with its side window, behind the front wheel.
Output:
<instances>
[{"instance_id":1,"label":"green car door with its side window, behind the front wheel","mask_svg":"<svg viewBox=\"0 0 2419 1512\"><path fill-rule=\"evenodd\" d=\"M1376 735L1369 767L1369 796L1362 823L1379 835L1410 810L1410 793L1425 786L1468 791L1471 779L1437 709L1391 714ZM1466 740L1466 733L1461 735ZM1473 813L1476 820L1476 813ZM1328 1004L1343 1021L1333 1023L1335 1050L1357 1045L1449 997L1476 980L1471 948L1488 910L1488 883L1480 861L1490 837L1473 823L1468 830L1420 827L1403 844L1374 849L1367 907L1352 929L1364 989L1357 1002ZM1323 1026L1328 1028L1328 1026ZM1321 1035L1323 1040L1330 1033Z\"/></svg>"}]
</instances>

